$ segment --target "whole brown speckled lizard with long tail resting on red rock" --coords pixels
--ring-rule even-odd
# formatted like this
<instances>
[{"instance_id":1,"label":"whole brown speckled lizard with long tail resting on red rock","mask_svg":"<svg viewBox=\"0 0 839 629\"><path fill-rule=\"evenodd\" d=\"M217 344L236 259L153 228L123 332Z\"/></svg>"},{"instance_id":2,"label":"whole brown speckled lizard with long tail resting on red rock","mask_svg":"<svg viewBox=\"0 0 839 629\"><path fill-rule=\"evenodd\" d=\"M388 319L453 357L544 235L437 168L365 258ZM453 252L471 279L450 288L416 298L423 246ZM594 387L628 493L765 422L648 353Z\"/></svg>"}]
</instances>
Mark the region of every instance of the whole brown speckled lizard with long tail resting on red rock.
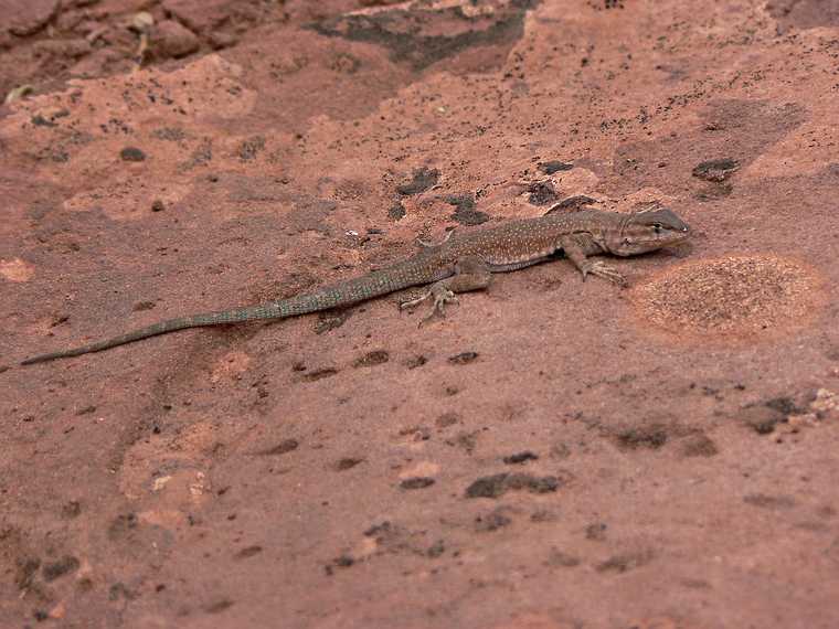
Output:
<instances>
[{"instance_id":1,"label":"whole brown speckled lizard with long tail resting on red rock","mask_svg":"<svg viewBox=\"0 0 839 629\"><path fill-rule=\"evenodd\" d=\"M542 216L507 221L454 237L453 232L448 232L438 244L418 241L423 249L412 257L310 292L257 306L169 319L104 341L35 355L21 364L99 352L187 328L297 317L431 285L421 297L401 305L401 308L413 308L432 299L431 314L424 319L427 320L435 314L443 316L444 307L457 301L456 294L486 289L492 274L518 270L557 254L564 254L584 280L592 275L625 286L623 275L590 256L635 256L681 243L690 235L690 227L662 206L631 213L591 207L572 213L557 210L561 210L559 204Z\"/></svg>"}]
</instances>

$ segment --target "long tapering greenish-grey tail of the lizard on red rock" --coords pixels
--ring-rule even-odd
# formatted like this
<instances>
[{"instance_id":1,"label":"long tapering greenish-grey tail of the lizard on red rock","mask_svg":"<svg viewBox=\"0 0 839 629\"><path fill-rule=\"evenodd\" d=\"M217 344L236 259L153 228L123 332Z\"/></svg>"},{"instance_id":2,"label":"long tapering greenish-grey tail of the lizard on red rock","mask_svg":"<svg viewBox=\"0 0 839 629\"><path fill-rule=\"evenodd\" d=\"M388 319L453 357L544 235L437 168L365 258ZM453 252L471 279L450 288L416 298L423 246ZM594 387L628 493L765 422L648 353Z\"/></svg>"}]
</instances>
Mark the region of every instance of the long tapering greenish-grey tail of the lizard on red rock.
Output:
<instances>
[{"instance_id":1,"label":"long tapering greenish-grey tail of the lizard on red rock","mask_svg":"<svg viewBox=\"0 0 839 629\"><path fill-rule=\"evenodd\" d=\"M401 290L410 286L432 281L434 278L428 278L424 273L425 269L422 268L422 265L418 265L417 262L418 260L416 259L405 260L404 263L394 265L387 269L373 271L355 279L350 279L331 287L325 287L314 292L298 295L289 299L270 301L259 306L235 308L233 310L222 310L219 312L206 312L203 314L194 314L192 317L169 319L105 341L32 356L22 361L21 364L31 365L55 359L65 359L70 356L78 356L81 354L89 354L92 352L100 352L117 345L132 343L135 341L148 339L149 337L157 337L158 334L174 332L176 330L185 330L187 328L221 326L259 319L285 319L287 317L297 317L298 314L306 314L308 312L328 310L338 306L351 306L359 301L365 301L373 297L387 295L389 292L394 292L395 290Z\"/></svg>"}]
</instances>

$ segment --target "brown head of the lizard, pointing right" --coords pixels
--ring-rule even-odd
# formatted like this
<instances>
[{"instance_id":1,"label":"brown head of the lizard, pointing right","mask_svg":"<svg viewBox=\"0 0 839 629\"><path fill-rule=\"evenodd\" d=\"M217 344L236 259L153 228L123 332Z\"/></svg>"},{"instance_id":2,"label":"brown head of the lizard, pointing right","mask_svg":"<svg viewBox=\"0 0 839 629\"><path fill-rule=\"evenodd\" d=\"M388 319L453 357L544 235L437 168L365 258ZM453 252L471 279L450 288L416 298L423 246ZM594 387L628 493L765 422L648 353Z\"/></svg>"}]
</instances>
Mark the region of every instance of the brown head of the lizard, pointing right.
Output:
<instances>
[{"instance_id":1,"label":"brown head of the lizard, pointing right","mask_svg":"<svg viewBox=\"0 0 839 629\"><path fill-rule=\"evenodd\" d=\"M690 227L667 207L628 214L617 231L606 234L606 249L616 256L635 256L681 243Z\"/></svg>"}]
</instances>

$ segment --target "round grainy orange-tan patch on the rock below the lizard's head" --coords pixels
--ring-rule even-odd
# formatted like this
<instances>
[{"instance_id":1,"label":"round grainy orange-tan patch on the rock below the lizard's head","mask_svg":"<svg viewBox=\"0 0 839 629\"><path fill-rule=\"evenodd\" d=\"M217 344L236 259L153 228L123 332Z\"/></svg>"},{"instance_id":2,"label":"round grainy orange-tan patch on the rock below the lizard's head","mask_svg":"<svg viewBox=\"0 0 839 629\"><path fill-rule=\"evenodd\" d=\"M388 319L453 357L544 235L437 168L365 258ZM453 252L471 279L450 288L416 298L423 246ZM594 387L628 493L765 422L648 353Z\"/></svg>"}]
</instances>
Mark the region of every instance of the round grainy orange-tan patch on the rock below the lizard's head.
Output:
<instances>
[{"instance_id":1,"label":"round grainy orange-tan patch on the rock below the lizard's head","mask_svg":"<svg viewBox=\"0 0 839 629\"><path fill-rule=\"evenodd\" d=\"M821 301L816 273L775 256L688 263L633 291L640 314L663 330L756 339L810 322Z\"/></svg>"}]
</instances>

